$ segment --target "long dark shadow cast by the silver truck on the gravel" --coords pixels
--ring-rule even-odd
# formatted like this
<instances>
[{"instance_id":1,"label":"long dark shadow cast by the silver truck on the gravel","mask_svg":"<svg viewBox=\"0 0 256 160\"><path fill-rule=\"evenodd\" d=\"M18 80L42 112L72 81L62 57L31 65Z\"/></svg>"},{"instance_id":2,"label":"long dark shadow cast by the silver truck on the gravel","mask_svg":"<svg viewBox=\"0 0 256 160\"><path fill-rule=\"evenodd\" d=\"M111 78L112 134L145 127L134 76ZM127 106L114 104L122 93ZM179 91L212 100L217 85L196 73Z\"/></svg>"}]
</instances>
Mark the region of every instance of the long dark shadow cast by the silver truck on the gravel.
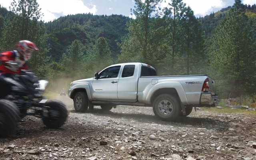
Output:
<instances>
[{"instance_id":1,"label":"long dark shadow cast by the silver truck on the gravel","mask_svg":"<svg viewBox=\"0 0 256 160\"><path fill-rule=\"evenodd\" d=\"M221 121L209 117L193 117L189 116L180 116L175 121L166 122L158 119L153 114L144 114L144 113L118 113L112 111L105 111L100 108L94 108L94 110L87 110L84 113L76 112L75 110L70 110L71 113L76 114L93 114L95 116L108 116L114 119L123 119L124 123L129 123L131 121L138 123L148 124L159 124L159 125L168 125L168 126L177 126L177 127L190 127L190 128L206 128L212 129L220 132L224 132L230 128L230 124L225 121Z\"/></svg>"}]
</instances>

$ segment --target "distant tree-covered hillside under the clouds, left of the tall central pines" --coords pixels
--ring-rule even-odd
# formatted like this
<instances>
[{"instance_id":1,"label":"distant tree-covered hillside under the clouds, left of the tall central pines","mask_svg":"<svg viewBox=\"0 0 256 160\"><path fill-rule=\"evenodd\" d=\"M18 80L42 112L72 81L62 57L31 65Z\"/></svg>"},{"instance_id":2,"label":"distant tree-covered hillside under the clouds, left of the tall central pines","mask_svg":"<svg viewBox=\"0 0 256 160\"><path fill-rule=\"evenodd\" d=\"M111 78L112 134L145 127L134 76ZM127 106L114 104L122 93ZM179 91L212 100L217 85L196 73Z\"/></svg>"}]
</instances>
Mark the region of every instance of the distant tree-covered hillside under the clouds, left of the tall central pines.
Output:
<instances>
[{"instance_id":1,"label":"distant tree-covered hillside under the clouds, left of the tall central pines","mask_svg":"<svg viewBox=\"0 0 256 160\"><path fill-rule=\"evenodd\" d=\"M45 25L51 48L49 54L58 62L67 46L74 40L80 40L86 45L86 54L98 38L104 37L110 46L112 58L116 59L116 55L120 54L117 42L121 42L122 36L128 33L125 29L128 20L128 17L122 15L99 16L89 13L68 15L47 22Z\"/></svg>"}]
</instances>

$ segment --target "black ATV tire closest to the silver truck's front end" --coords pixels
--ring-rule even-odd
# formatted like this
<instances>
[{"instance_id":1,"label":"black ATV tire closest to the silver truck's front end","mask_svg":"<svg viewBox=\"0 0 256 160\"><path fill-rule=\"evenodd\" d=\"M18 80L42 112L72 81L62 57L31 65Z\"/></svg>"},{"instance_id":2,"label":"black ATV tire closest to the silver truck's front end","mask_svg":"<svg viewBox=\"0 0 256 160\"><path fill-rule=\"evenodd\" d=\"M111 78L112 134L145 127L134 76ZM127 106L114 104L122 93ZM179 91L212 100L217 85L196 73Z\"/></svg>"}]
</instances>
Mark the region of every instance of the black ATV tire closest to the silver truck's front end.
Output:
<instances>
[{"instance_id":1,"label":"black ATV tire closest to the silver truck's front end","mask_svg":"<svg viewBox=\"0 0 256 160\"><path fill-rule=\"evenodd\" d=\"M43 118L44 124L48 128L60 128L68 117L65 104L58 100L49 100L44 106L47 106L48 110L48 117Z\"/></svg>"}]
</instances>

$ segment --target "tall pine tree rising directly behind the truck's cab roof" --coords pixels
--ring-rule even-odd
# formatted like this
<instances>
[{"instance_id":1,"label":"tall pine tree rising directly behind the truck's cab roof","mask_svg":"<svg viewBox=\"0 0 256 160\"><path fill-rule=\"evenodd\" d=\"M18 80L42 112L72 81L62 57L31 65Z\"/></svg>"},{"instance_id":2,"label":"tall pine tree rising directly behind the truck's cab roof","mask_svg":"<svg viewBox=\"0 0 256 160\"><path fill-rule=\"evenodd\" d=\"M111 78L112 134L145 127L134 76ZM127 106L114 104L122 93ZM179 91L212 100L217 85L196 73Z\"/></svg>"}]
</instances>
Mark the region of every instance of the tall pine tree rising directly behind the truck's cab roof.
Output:
<instances>
[{"instance_id":1,"label":"tall pine tree rising directly behind the truck's cab roof","mask_svg":"<svg viewBox=\"0 0 256 160\"><path fill-rule=\"evenodd\" d=\"M162 0L135 0L132 10L136 19L127 23L129 34L122 38L122 54L118 62L145 62L154 64L161 57L163 42L163 13L158 4Z\"/></svg>"}]
</instances>

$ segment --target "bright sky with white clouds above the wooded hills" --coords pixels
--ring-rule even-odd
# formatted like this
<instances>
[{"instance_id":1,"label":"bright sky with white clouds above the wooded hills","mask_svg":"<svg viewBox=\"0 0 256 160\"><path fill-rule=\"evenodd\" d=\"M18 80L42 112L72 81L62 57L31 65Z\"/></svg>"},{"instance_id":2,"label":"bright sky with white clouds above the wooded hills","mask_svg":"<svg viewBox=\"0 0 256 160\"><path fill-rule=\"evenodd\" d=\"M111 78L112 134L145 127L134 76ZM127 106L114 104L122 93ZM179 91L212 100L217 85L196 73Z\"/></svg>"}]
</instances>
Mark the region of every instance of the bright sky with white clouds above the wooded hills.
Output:
<instances>
[{"instance_id":1,"label":"bright sky with white clouds above the wooded hills","mask_svg":"<svg viewBox=\"0 0 256 160\"><path fill-rule=\"evenodd\" d=\"M256 0L241 0L243 4L256 4ZM9 10L13 0L0 0L2 7ZM18 2L18 0L16 0ZM41 12L44 14L44 22L53 21L60 16L68 14L91 13L94 15L122 14L131 16L131 8L134 8L134 0L37 0ZM170 0L160 4L165 7ZM194 11L196 17L209 15L222 8L232 6L235 0L183 0L186 6Z\"/></svg>"}]
</instances>

